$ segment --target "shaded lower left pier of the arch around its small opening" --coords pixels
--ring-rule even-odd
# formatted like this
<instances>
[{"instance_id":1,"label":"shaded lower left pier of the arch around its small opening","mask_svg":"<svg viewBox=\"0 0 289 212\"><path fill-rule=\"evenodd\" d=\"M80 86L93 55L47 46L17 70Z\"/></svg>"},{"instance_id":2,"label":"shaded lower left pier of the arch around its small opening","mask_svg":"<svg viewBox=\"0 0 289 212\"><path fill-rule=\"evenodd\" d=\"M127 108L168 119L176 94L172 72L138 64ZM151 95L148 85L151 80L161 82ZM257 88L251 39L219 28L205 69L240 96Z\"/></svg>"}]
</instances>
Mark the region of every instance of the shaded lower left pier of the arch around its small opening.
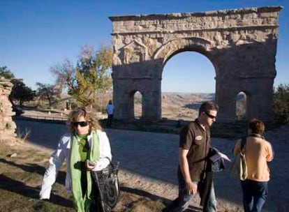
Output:
<instances>
[{"instance_id":1,"label":"shaded lower left pier of the arch around its small opening","mask_svg":"<svg viewBox=\"0 0 289 212\"><path fill-rule=\"evenodd\" d=\"M113 66L114 119L134 119L133 98L142 94L142 119L161 119L161 60Z\"/></svg>"}]
</instances>

